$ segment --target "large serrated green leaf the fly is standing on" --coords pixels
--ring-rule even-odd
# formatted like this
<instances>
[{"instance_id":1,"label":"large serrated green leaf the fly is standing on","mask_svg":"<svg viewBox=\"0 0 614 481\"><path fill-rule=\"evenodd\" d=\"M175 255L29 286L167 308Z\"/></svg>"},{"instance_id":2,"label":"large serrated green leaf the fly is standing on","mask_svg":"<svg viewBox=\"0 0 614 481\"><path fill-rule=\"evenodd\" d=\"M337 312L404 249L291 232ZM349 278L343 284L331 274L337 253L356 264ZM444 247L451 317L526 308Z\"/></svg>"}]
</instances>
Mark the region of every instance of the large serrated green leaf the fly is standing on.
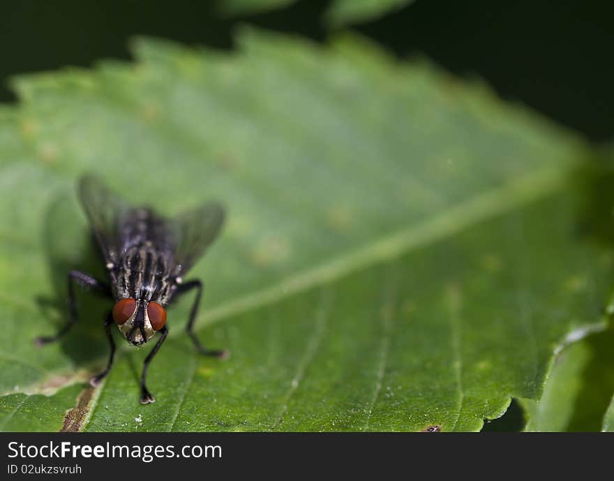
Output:
<instances>
[{"instance_id":1,"label":"large serrated green leaf the fly is standing on","mask_svg":"<svg viewBox=\"0 0 614 481\"><path fill-rule=\"evenodd\" d=\"M613 280L607 244L580 229L610 221L587 202L581 143L354 38L239 39L237 54L141 40L136 65L15 82L0 118L0 399L15 413L0 423L33 429L27 400L68 430L463 431L538 399ZM104 274L74 194L92 170L167 214L227 206L191 275L199 338L232 356L195 354L182 299L148 406L149 348L119 336L100 387L52 394L103 367L109 302L80 293L73 332L32 345L66 320L69 269Z\"/></svg>"}]
</instances>

